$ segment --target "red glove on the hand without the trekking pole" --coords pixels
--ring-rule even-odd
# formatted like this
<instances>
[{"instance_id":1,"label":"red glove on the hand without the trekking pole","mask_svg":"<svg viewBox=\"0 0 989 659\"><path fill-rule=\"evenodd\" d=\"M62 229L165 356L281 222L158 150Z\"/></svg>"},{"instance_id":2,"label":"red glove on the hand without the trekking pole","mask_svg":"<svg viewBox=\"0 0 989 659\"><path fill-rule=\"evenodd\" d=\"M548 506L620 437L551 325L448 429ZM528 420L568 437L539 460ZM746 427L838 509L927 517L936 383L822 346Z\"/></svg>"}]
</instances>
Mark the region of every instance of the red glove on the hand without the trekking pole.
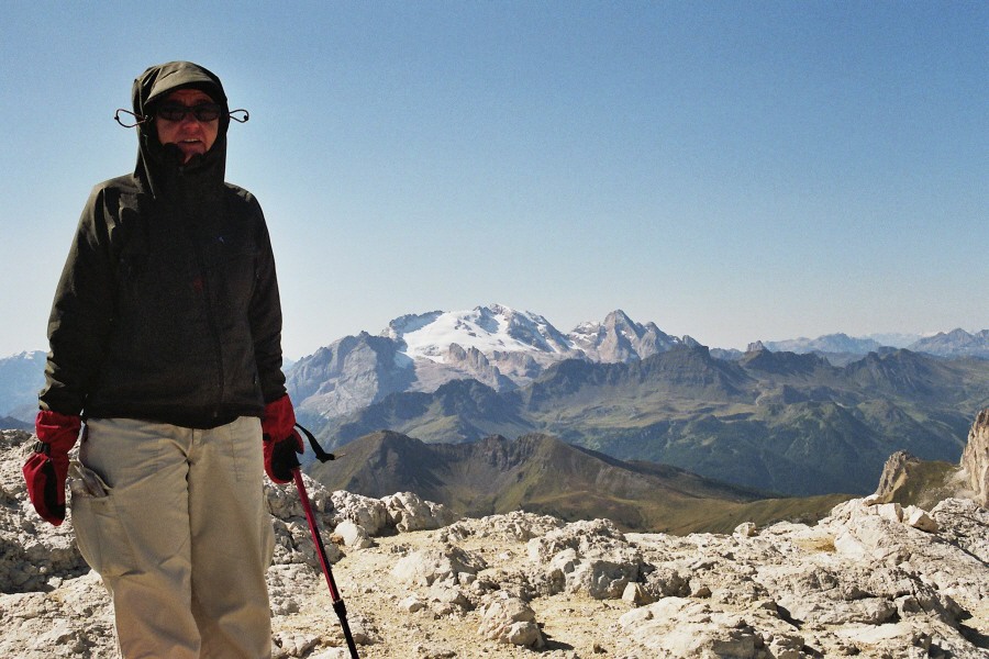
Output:
<instances>
[{"instance_id":1,"label":"red glove on the hand without the trekking pole","mask_svg":"<svg viewBox=\"0 0 989 659\"><path fill-rule=\"evenodd\" d=\"M76 445L81 425L76 415L59 414L49 410L38 412L34 421L38 442L35 443L34 453L21 470L34 510L55 526L65 521L68 451Z\"/></svg>"}]
</instances>

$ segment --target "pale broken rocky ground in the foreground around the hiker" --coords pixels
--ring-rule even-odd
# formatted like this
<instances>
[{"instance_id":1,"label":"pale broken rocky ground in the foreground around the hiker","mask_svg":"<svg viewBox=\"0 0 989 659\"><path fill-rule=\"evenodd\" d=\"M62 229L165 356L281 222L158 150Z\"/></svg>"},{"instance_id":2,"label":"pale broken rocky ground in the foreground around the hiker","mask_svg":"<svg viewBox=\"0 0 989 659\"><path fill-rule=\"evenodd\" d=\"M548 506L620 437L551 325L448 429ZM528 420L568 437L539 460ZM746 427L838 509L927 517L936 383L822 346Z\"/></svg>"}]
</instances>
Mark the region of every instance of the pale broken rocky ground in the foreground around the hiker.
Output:
<instances>
[{"instance_id":1,"label":"pale broken rocky ground in the foreground around the hiker","mask_svg":"<svg viewBox=\"0 0 989 659\"><path fill-rule=\"evenodd\" d=\"M0 656L113 657L112 611L31 510L33 437L0 437ZM622 533L513 512L455 521L409 493L307 480L365 658L989 657L989 511L840 504L814 525ZM295 489L266 483L278 659L347 657Z\"/></svg>"}]
</instances>

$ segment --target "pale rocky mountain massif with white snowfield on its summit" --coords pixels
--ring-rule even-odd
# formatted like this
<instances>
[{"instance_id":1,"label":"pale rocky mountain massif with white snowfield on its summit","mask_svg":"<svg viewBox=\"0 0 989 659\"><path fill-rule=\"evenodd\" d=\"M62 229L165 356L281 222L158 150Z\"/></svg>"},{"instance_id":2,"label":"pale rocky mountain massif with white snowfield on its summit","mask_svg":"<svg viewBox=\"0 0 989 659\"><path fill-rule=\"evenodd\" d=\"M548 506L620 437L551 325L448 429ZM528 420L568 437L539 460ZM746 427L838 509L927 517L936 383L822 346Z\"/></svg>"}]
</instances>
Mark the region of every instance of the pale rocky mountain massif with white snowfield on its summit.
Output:
<instances>
[{"instance_id":1,"label":"pale rocky mountain massif with white snowfield on its summit","mask_svg":"<svg viewBox=\"0 0 989 659\"><path fill-rule=\"evenodd\" d=\"M622 311L564 334L545 317L501 304L400 316L380 335L346 336L288 372L297 409L330 418L404 391L474 379L504 391L563 359L631 361L692 342L641 325Z\"/></svg>"}]
</instances>

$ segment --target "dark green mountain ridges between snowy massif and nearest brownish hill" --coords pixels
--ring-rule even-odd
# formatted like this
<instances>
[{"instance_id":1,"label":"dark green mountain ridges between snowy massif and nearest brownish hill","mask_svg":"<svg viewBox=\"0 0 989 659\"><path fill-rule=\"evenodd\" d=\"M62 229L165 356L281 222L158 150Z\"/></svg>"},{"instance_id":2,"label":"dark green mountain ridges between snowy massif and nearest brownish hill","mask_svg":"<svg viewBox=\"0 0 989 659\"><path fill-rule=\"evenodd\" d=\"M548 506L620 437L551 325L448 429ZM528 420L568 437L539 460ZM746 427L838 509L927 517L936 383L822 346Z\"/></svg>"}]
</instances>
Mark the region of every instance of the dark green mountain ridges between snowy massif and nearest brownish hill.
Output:
<instances>
[{"instance_id":1,"label":"dark green mountain ridges between snowy massif and nearest brownish hill","mask_svg":"<svg viewBox=\"0 0 989 659\"><path fill-rule=\"evenodd\" d=\"M743 488L863 494L897 450L957 460L987 404L980 359L896 350L834 367L815 355L757 350L729 361L684 346L630 364L563 361L512 392L459 381L392 394L320 435L340 446L386 428L431 444L546 433Z\"/></svg>"}]
</instances>

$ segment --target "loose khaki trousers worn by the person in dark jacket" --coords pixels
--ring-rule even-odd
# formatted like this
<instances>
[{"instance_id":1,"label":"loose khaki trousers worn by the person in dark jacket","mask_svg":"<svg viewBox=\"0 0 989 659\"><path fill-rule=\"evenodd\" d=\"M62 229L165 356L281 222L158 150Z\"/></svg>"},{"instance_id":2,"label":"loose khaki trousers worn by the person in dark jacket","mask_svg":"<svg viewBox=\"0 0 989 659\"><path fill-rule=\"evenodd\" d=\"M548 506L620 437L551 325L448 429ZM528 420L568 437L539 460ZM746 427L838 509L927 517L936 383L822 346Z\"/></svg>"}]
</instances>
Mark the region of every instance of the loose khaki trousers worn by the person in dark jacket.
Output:
<instances>
[{"instance_id":1,"label":"loose khaki trousers worn by the person in dark jacket","mask_svg":"<svg viewBox=\"0 0 989 659\"><path fill-rule=\"evenodd\" d=\"M107 495L74 493L73 525L112 596L121 655L270 658L260 422L92 418L87 429L79 461Z\"/></svg>"}]
</instances>

